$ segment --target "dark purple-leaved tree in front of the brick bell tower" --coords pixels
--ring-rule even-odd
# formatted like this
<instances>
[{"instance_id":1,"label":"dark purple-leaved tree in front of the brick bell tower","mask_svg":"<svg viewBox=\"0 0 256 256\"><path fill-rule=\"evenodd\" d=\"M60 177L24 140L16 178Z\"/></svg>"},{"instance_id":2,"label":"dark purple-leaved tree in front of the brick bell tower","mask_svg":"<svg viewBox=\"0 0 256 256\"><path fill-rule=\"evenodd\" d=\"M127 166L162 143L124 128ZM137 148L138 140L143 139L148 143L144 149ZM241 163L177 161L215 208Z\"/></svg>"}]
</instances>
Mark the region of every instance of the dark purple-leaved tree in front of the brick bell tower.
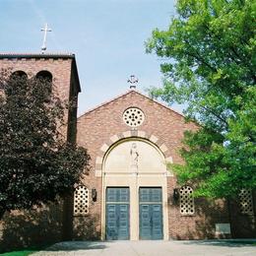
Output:
<instances>
[{"instance_id":1,"label":"dark purple-leaved tree in front of the brick bell tower","mask_svg":"<svg viewBox=\"0 0 256 256\"><path fill-rule=\"evenodd\" d=\"M0 220L6 212L41 206L72 191L89 160L85 149L61 135L66 104L52 93L54 85L2 73Z\"/></svg>"}]
</instances>

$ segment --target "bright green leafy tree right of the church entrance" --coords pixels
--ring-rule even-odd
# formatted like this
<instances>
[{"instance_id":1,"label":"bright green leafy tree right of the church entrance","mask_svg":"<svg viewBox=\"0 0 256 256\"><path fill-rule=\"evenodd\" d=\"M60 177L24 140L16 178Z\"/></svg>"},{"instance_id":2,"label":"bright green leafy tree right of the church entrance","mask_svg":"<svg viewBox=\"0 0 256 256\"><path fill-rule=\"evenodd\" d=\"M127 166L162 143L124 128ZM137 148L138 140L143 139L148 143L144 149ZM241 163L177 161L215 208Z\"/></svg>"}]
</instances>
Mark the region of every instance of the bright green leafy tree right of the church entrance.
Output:
<instances>
[{"instance_id":1,"label":"bright green leafy tree right of the church entrance","mask_svg":"<svg viewBox=\"0 0 256 256\"><path fill-rule=\"evenodd\" d=\"M236 196L256 187L256 2L179 0L176 8L168 30L147 41L167 59L152 94L184 104L200 125L185 134L185 164L172 167L198 196Z\"/></svg>"}]
</instances>

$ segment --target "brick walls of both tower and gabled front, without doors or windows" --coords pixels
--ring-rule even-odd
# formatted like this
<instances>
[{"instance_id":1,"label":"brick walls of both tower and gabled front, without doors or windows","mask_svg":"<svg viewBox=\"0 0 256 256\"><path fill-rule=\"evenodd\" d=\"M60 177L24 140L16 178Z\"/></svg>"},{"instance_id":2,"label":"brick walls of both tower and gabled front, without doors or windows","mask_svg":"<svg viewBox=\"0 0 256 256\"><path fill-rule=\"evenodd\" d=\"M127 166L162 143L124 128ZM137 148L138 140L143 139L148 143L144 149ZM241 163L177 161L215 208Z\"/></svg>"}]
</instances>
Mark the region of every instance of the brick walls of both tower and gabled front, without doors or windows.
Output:
<instances>
[{"instance_id":1,"label":"brick walls of both tower and gabled front, without doors or windows","mask_svg":"<svg viewBox=\"0 0 256 256\"><path fill-rule=\"evenodd\" d=\"M74 55L1 55L0 69L24 71L29 76L46 70L52 74L55 93L62 99L77 100L80 92L79 78ZM144 123L131 129L122 119L128 107L139 107L145 114ZM67 198L59 205L29 212L14 212L6 215L0 225L0 248L10 249L14 244L31 245L51 243L63 239L100 239L102 233L102 160L112 145L129 138L142 138L154 144L165 161L181 163L179 149L183 133L198 129L194 123L186 123L184 117L159 102L129 91L95 109L77 120L77 109L67 111L67 126L63 131L67 140L76 141L88 149L91 170L81 183L90 190L89 215L73 216L73 198ZM176 178L170 174L167 180L168 237L173 239L199 239L218 237L254 237L256 202L254 215L241 215L237 202L217 200L209 202L195 199L195 213L182 216L179 202L173 199L173 189L178 188ZM92 189L96 189L96 201L92 200ZM255 194L254 194L255 201ZM215 224L231 224L231 234L216 233ZM17 231L18 230L18 231ZM35 233L47 233L38 237ZM7 242L8 240L8 242Z\"/></svg>"}]
</instances>

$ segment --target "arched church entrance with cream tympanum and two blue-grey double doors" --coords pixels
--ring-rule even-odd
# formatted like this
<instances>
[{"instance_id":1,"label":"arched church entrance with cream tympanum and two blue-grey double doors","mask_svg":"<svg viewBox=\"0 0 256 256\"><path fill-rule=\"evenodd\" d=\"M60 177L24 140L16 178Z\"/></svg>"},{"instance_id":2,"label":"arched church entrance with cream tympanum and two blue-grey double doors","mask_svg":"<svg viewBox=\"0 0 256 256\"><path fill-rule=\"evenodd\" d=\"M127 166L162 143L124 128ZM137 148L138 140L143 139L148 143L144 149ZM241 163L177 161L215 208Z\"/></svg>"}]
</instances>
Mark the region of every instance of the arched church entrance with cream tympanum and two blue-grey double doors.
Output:
<instances>
[{"instance_id":1,"label":"arched church entrance with cream tympanum and two blue-grey double doors","mask_svg":"<svg viewBox=\"0 0 256 256\"><path fill-rule=\"evenodd\" d=\"M113 144L102 162L102 239L168 239L166 175L149 140Z\"/></svg>"}]
</instances>

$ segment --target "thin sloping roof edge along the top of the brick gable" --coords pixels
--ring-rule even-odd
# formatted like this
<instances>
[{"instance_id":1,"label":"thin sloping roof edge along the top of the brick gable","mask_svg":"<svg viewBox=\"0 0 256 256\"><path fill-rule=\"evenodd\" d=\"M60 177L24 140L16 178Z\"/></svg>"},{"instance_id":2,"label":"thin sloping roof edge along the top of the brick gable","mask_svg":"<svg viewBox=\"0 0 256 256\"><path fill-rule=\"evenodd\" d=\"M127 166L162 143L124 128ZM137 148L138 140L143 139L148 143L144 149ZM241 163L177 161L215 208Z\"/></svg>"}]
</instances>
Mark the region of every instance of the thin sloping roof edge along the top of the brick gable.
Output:
<instances>
[{"instance_id":1,"label":"thin sloping roof edge along the top of the brick gable","mask_svg":"<svg viewBox=\"0 0 256 256\"><path fill-rule=\"evenodd\" d=\"M105 102L103 102L103 103L101 103L101 104L99 104L99 105L96 105L95 107L93 107L93 108L89 109L88 111L86 111L85 113L81 114L81 115L78 117L78 119L81 118L81 117L83 117L83 116L85 116L85 115L87 115L87 114L89 114L89 113L91 113L91 112L96 111L96 109L98 109L98 108L100 108L100 107L102 107L102 106L105 106L105 105L107 105L107 104L113 102L114 100L116 100L116 99L118 99L118 98L120 98L120 97L127 96L127 95L132 94L132 93L135 93L135 94L137 94L137 95L139 95L139 96L146 97L147 99L151 100L152 102L155 102L155 103L159 104L161 107L164 107L164 108L166 108L166 109L168 109L168 110L174 112L175 114L178 114L178 115L184 117L183 114L181 114L181 113L179 113L179 112L173 110L172 108L170 108L169 106L167 106L167 105L165 105L165 104L163 104L163 103L160 103L160 101L158 101L158 100L156 100L156 99L153 99L153 98L151 98L151 97L149 97L149 96L145 96L145 95L143 95L142 93L139 93L137 90L131 89L131 90L129 90L128 92L126 92L126 93L124 93L124 94L122 94L122 95L120 95L120 96L115 96L115 97L113 97L112 99L109 99L109 100L107 100L107 101L105 101Z\"/></svg>"}]
</instances>

